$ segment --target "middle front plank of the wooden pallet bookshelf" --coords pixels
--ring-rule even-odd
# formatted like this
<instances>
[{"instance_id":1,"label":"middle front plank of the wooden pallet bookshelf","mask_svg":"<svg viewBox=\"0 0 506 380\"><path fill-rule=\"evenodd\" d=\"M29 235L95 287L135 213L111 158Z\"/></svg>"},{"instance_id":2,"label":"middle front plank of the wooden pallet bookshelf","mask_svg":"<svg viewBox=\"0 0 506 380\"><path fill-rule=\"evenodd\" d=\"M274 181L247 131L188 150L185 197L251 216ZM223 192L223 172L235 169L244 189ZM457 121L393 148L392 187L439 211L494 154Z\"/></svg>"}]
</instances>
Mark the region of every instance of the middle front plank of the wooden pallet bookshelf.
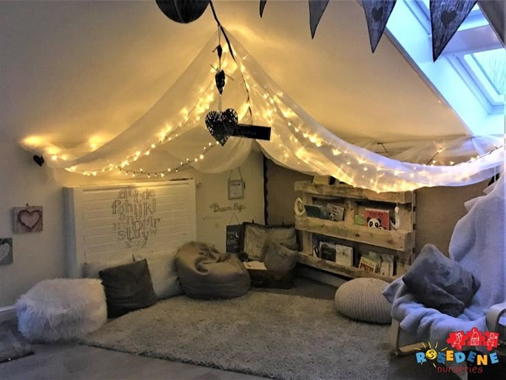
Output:
<instances>
[{"instance_id":1,"label":"middle front plank of the wooden pallet bookshelf","mask_svg":"<svg viewBox=\"0 0 506 380\"><path fill-rule=\"evenodd\" d=\"M412 231L371 229L366 226L348 224L347 222L333 222L331 220L308 218L306 216L296 215L295 228L353 242L382 246L395 251L409 251L412 249L413 244Z\"/></svg>"}]
</instances>

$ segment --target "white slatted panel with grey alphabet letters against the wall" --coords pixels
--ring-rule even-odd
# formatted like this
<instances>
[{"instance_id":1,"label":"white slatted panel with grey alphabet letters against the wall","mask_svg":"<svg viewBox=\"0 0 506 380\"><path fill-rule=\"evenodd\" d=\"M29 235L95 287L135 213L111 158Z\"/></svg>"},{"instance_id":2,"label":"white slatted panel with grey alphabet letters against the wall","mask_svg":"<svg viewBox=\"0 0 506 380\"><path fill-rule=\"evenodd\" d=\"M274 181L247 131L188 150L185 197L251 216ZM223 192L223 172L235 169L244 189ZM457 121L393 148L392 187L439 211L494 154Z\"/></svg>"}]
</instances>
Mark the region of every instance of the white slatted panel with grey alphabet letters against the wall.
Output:
<instances>
[{"instance_id":1,"label":"white slatted panel with grey alphabet letters against the wall","mask_svg":"<svg viewBox=\"0 0 506 380\"><path fill-rule=\"evenodd\" d=\"M83 264L197 239L194 180L65 189L69 277Z\"/></svg>"}]
</instances>

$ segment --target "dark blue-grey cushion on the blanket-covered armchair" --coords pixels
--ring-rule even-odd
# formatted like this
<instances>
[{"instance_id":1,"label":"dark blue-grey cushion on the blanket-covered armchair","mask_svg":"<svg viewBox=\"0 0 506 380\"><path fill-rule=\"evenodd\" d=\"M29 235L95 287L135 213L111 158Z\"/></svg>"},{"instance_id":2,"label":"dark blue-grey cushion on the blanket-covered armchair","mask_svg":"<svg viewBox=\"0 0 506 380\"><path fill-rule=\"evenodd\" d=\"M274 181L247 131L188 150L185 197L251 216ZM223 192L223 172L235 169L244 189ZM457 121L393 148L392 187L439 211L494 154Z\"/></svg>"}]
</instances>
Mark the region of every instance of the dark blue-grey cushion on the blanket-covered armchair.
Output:
<instances>
[{"instance_id":1,"label":"dark blue-grey cushion on the blanket-covered armchair","mask_svg":"<svg viewBox=\"0 0 506 380\"><path fill-rule=\"evenodd\" d=\"M480 287L474 275L432 244L423 247L402 280L419 302L452 317L462 314Z\"/></svg>"}]
</instances>

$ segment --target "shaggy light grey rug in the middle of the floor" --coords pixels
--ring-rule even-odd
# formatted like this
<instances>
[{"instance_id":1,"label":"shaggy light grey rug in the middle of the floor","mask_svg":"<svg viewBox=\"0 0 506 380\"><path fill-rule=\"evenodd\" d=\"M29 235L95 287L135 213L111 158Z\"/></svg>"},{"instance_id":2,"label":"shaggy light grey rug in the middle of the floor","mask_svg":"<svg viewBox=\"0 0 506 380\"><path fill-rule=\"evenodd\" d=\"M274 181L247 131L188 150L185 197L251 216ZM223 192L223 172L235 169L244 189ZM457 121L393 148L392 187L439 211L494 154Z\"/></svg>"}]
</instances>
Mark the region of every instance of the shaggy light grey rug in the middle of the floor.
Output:
<instances>
[{"instance_id":1,"label":"shaggy light grey rug in the middle of the floor","mask_svg":"<svg viewBox=\"0 0 506 380\"><path fill-rule=\"evenodd\" d=\"M275 293L173 297L110 321L83 343L274 379L386 379L388 326L340 317L333 302Z\"/></svg>"}]
</instances>

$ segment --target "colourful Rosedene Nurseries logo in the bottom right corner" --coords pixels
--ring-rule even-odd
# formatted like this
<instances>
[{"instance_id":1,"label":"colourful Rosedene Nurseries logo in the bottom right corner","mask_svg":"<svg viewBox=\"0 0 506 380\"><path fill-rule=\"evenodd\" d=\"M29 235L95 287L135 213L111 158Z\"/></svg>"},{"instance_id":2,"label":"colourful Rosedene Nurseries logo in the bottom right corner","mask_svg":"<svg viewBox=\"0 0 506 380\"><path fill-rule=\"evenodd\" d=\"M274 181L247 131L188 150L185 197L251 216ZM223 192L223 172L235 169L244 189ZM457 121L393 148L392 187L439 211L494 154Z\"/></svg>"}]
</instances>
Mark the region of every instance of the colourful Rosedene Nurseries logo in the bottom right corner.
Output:
<instances>
[{"instance_id":1,"label":"colourful Rosedene Nurseries logo in the bottom right corner","mask_svg":"<svg viewBox=\"0 0 506 380\"><path fill-rule=\"evenodd\" d=\"M476 327L463 332L450 332L446 343L450 348L438 349L437 344L424 344L423 349L415 354L417 363L423 364L432 361L432 366L437 368L438 373L446 372L470 372L481 373L483 366L498 363L497 352L492 352L497 347L499 333L495 331L479 331ZM453 349L452 349L453 348ZM465 352L462 350L465 348ZM476 348L476 350L472 350ZM461 363L461 366L456 364ZM467 366L467 364L472 366Z\"/></svg>"}]
</instances>

